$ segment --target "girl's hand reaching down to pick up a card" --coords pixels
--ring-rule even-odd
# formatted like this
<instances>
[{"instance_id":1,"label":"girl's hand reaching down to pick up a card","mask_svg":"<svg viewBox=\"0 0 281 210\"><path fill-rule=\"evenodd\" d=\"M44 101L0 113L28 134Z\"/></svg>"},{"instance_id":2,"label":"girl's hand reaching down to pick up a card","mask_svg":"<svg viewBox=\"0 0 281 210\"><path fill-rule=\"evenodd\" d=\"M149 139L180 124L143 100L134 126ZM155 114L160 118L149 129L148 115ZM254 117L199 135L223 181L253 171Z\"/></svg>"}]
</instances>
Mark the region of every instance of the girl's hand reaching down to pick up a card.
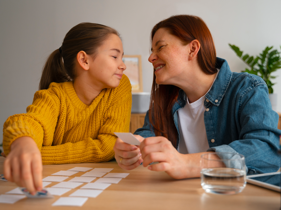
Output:
<instances>
[{"instance_id":1,"label":"girl's hand reaching down to pick up a card","mask_svg":"<svg viewBox=\"0 0 281 210\"><path fill-rule=\"evenodd\" d=\"M23 136L11 144L11 152L4 162L7 180L35 194L42 190L42 169L41 153L32 138Z\"/></svg>"}]
</instances>

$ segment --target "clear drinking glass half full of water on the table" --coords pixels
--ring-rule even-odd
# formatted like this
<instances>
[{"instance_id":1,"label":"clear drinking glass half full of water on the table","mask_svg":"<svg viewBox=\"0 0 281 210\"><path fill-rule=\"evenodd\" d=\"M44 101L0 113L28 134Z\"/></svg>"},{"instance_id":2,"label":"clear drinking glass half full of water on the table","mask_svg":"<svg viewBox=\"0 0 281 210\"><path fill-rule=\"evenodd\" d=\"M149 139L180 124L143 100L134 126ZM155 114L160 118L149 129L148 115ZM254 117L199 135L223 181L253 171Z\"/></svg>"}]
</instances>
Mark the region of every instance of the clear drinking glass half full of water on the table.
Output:
<instances>
[{"instance_id":1,"label":"clear drinking glass half full of water on the table","mask_svg":"<svg viewBox=\"0 0 281 210\"><path fill-rule=\"evenodd\" d=\"M205 192L236 194L242 192L246 186L246 165L243 155L207 153L201 155L200 167L201 186Z\"/></svg>"}]
</instances>

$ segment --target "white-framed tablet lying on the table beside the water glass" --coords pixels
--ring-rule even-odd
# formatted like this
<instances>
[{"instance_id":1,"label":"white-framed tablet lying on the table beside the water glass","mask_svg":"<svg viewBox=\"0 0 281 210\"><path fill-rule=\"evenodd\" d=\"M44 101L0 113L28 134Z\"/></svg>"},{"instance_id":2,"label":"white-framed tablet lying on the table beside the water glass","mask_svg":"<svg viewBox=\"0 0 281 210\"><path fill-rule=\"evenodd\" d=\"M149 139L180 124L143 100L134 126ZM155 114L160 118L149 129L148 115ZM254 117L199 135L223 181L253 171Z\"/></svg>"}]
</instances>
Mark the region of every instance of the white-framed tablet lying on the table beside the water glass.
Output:
<instances>
[{"instance_id":1,"label":"white-framed tablet lying on the table beside the water glass","mask_svg":"<svg viewBox=\"0 0 281 210\"><path fill-rule=\"evenodd\" d=\"M258 185L270 190L281 192L280 187L281 172L267 173L267 174L256 174L246 176L247 183Z\"/></svg>"}]
</instances>

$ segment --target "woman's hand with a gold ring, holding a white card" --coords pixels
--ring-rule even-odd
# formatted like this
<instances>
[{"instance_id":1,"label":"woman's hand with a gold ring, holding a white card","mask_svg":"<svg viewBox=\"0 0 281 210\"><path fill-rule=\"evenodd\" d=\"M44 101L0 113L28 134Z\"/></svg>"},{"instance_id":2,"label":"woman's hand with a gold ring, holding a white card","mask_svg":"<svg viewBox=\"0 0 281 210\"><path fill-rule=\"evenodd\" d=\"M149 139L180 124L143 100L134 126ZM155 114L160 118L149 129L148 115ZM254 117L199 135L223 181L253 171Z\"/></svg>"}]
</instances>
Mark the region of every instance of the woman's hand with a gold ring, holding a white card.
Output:
<instances>
[{"instance_id":1,"label":"woman's hand with a gold ring, holding a white card","mask_svg":"<svg viewBox=\"0 0 281 210\"><path fill-rule=\"evenodd\" d=\"M144 139L139 135L134 136L140 142ZM139 147L125 143L120 138L116 139L113 150L115 152L115 159L122 169L131 170L143 162Z\"/></svg>"}]
</instances>

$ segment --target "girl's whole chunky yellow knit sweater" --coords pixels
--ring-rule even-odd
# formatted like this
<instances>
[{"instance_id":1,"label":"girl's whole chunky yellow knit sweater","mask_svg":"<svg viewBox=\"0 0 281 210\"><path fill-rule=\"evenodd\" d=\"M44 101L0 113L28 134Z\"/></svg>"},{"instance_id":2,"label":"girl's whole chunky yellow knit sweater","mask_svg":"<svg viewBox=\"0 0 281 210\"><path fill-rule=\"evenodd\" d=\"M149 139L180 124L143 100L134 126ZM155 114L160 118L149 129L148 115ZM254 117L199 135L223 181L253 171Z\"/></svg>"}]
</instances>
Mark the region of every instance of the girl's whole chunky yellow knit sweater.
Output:
<instances>
[{"instance_id":1,"label":"girl's whole chunky yellow knit sweater","mask_svg":"<svg viewBox=\"0 0 281 210\"><path fill-rule=\"evenodd\" d=\"M3 148L30 136L41 151L43 164L104 162L114 157L114 132L129 132L132 95L123 75L114 89L103 89L90 106L84 104L72 82L51 83L37 91L26 114L4 123Z\"/></svg>"}]
</instances>

